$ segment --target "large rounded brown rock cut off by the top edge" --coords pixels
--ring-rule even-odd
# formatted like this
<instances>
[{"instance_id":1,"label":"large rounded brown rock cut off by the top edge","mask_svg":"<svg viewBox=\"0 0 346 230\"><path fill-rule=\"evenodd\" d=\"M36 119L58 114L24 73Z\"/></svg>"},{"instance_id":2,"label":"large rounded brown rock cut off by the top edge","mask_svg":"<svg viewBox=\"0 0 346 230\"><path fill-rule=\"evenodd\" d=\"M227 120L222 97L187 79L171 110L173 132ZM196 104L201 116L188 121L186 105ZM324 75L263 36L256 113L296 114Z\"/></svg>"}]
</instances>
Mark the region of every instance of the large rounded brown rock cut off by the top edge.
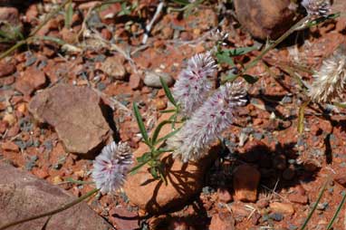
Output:
<instances>
[{"instance_id":1,"label":"large rounded brown rock cut off by the top edge","mask_svg":"<svg viewBox=\"0 0 346 230\"><path fill-rule=\"evenodd\" d=\"M276 39L294 23L290 0L235 0L240 24L255 38Z\"/></svg>"}]
</instances>

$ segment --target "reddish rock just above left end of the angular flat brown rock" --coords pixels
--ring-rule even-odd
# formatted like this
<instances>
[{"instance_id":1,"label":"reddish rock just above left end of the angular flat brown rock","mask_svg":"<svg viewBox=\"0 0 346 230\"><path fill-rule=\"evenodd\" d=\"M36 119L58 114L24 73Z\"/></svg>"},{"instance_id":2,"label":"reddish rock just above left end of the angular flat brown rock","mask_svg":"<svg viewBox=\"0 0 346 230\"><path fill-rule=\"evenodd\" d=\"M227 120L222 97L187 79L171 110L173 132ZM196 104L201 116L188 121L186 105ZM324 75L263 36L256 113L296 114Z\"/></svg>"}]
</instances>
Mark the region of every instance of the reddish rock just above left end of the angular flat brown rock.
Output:
<instances>
[{"instance_id":1,"label":"reddish rock just above left end of the angular flat brown rock","mask_svg":"<svg viewBox=\"0 0 346 230\"><path fill-rule=\"evenodd\" d=\"M15 82L15 90L24 95L31 95L35 90L42 89L45 84L44 72L32 66L25 70Z\"/></svg>"}]
</instances>

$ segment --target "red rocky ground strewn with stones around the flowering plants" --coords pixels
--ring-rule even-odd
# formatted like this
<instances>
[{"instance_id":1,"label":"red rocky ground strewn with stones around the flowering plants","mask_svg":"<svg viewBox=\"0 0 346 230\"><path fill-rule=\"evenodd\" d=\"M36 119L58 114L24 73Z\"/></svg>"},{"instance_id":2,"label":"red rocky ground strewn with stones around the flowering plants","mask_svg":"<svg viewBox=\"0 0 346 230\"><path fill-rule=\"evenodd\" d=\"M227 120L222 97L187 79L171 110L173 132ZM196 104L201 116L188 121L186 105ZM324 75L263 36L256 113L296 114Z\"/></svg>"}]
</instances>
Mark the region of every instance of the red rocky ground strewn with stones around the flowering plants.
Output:
<instances>
[{"instance_id":1,"label":"red rocky ground strewn with stones around the flowering plants","mask_svg":"<svg viewBox=\"0 0 346 230\"><path fill-rule=\"evenodd\" d=\"M0 1L1 21L26 37L59 1L8 2ZM142 43L159 1L124 2L96 7L98 1L73 1L69 20L68 9L60 10L38 30L40 39L0 62L0 226L91 191L93 185L72 181L91 181L92 159L111 139L142 153L132 103L153 129L168 107L159 76L172 86L189 57L214 47L216 28L228 34L227 49L262 47L245 28L268 33L267 22L240 25L227 1L207 1L190 14L168 2ZM332 7L346 11L342 0ZM120 192L87 200L89 206L12 229L293 230L327 183L308 225L325 229L346 186L345 110L309 104L299 134L298 112L307 97L294 76L310 84L310 71L346 43L345 32L342 17L299 31L249 70L259 80L248 85L249 102L224 135L228 150L216 148L215 158L187 169L171 162L179 189L159 181L139 187L145 177L139 173ZM0 43L0 49L13 44ZM258 53L236 57L235 65ZM219 77L229 70L220 64ZM343 207L334 229L345 223Z\"/></svg>"}]
</instances>

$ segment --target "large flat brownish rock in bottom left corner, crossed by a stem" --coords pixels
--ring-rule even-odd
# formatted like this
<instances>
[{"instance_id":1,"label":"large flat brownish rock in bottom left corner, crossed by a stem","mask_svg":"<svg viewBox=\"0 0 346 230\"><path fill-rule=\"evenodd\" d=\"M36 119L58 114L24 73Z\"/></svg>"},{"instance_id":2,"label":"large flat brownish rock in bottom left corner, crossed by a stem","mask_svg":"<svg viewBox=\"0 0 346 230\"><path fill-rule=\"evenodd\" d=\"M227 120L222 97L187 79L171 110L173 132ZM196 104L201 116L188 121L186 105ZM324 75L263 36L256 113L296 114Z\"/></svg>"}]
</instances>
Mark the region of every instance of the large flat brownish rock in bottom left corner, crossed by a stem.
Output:
<instances>
[{"instance_id":1,"label":"large flat brownish rock in bottom left corner, crossed by a stem","mask_svg":"<svg viewBox=\"0 0 346 230\"><path fill-rule=\"evenodd\" d=\"M43 214L71 202L71 196L60 187L52 186L18 168L0 162L0 226L25 217ZM86 203L43 217L8 230L107 230L113 229ZM44 227L45 225L45 227Z\"/></svg>"}]
</instances>

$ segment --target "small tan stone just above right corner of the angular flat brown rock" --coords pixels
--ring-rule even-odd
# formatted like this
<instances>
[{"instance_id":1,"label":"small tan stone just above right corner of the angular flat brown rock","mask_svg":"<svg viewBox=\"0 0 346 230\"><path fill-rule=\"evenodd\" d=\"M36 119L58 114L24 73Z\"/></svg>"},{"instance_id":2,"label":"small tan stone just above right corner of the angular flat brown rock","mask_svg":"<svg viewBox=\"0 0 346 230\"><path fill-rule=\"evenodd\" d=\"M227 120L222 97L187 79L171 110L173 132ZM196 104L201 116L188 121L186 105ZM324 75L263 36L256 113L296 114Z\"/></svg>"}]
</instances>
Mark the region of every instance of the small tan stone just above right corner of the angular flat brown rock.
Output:
<instances>
[{"instance_id":1,"label":"small tan stone just above right corner of the angular flat brown rock","mask_svg":"<svg viewBox=\"0 0 346 230\"><path fill-rule=\"evenodd\" d=\"M117 80L125 80L127 74L124 67L124 59L119 56L106 58L106 60L101 63L100 70Z\"/></svg>"}]
</instances>

